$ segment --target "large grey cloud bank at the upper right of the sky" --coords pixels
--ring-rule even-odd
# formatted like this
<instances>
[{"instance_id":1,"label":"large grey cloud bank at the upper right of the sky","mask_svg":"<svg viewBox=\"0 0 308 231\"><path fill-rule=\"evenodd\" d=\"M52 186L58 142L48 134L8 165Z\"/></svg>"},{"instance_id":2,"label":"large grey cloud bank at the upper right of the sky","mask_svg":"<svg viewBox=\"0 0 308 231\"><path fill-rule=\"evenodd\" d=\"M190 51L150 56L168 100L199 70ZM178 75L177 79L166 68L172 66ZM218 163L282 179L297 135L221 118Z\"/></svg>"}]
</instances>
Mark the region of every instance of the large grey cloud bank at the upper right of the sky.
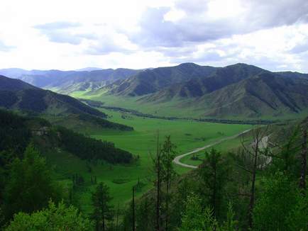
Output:
<instances>
[{"instance_id":1,"label":"large grey cloud bank at the upper right of the sky","mask_svg":"<svg viewBox=\"0 0 308 231\"><path fill-rule=\"evenodd\" d=\"M245 12L236 17L209 18L209 1L176 1L175 8L185 11L178 21L164 21L171 8L145 9L136 34L128 38L143 49L155 47L185 47L187 43L204 43L209 40L231 38L232 35L253 33L257 30L292 25L307 18L306 0L246 0Z\"/></svg>"}]
</instances>

